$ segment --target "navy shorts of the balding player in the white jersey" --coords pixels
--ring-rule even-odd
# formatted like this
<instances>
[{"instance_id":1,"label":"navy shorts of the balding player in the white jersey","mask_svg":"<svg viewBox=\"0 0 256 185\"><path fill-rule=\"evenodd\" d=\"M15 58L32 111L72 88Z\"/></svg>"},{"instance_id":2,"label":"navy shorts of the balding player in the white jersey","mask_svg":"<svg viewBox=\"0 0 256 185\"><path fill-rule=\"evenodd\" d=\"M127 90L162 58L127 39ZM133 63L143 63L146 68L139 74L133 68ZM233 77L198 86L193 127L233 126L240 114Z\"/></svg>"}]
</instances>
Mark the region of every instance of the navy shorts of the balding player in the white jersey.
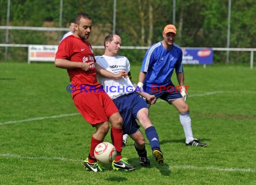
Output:
<instances>
[{"instance_id":1,"label":"navy shorts of the balding player in the white jersey","mask_svg":"<svg viewBox=\"0 0 256 185\"><path fill-rule=\"evenodd\" d=\"M124 134L135 134L140 126L136 122L137 113L143 108L148 108L146 102L137 93L129 93L113 100L123 118Z\"/></svg>"}]
</instances>

